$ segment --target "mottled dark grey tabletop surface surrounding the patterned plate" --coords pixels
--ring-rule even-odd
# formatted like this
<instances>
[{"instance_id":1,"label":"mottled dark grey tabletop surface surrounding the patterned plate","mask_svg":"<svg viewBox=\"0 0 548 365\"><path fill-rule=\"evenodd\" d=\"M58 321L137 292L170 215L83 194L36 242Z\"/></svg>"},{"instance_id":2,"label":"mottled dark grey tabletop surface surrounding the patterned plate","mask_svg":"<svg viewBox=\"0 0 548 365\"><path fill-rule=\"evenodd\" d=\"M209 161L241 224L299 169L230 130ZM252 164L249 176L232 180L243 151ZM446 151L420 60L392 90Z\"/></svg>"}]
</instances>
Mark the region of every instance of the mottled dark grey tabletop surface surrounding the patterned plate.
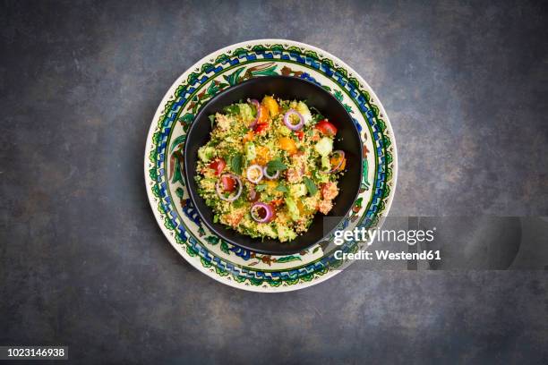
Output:
<instances>
[{"instance_id":1,"label":"mottled dark grey tabletop surface surrounding the patterned plate","mask_svg":"<svg viewBox=\"0 0 548 365\"><path fill-rule=\"evenodd\" d=\"M350 270L246 293L170 247L142 173L179 74L290 38L381 98L391 214L548 215L545 4L2 2L0 344L65 344L80 363L546 363L545 271Z\"/></svg>"}]
</instances>

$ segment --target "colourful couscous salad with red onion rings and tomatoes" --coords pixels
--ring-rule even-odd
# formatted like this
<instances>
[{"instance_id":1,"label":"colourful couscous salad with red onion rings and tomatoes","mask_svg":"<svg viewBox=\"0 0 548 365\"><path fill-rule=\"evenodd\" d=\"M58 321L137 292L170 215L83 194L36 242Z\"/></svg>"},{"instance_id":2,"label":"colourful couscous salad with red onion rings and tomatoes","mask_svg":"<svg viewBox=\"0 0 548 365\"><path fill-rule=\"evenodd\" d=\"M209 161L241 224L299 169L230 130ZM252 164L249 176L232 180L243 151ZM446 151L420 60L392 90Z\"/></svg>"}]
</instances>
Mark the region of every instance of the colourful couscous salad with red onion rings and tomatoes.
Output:
<instances>
[{"instance_id":1,"label":"colourful couscous salad with red onion rings and tomatoes","mask_svg":"<svg viewBox=\"0 0 548 365\"><path fill-rule=\"evenodd\" d=\"M213 222L253 238L290 242L327 215L345 173L338 128L304 100L266 95L209 115L194 179Z\"/></svg>"}]
</instances>

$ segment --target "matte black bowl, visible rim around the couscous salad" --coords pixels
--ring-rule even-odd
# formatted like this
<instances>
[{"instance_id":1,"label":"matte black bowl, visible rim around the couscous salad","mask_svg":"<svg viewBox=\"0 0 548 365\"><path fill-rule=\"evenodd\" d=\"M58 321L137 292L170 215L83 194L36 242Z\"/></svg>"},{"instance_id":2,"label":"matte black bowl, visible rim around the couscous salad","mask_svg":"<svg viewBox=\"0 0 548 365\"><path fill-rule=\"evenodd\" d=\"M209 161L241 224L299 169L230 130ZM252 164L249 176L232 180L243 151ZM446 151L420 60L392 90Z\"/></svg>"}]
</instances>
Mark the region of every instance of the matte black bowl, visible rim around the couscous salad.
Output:
<instances>
[{"instance_id":1,"label":"matte black bowl, visible rim around the couscous salad","mask_svg":"<svg viewBox=\"0 0 548 365\"><path fill-rule=\"evenodd\" d=\"M246 100L247 98L261 100L265 95L274 95L276 98L289 100L306 100L308 106L315 107L331 123L335 124L338 133L334 149L344 150L347 156L347 171L339 179L339 193L337 198L334 199L334 206L328 215L335 218L325 219L324 221L321 213L316 214L308 231L297 236L291 242L255 239L237 233L225 225L213 223L211 208L206 206L204 199L198 194L198 185L194 180L194 176L197 174L198 149L210 140L211 123L208 116L220 112L223 107L239 100ZM219 237L237 246L261 253L271 255L293 254L321 242L326 235L337 227L342 218L347 215L348 210L352 208L362 180L362 141L351 116L330 92L310 81L294 77L258 77L220 92L201 108L201 112L196 115L186 135L184 177L194 207L200 214L201 220Z\"/></svg>"}]
</instances>

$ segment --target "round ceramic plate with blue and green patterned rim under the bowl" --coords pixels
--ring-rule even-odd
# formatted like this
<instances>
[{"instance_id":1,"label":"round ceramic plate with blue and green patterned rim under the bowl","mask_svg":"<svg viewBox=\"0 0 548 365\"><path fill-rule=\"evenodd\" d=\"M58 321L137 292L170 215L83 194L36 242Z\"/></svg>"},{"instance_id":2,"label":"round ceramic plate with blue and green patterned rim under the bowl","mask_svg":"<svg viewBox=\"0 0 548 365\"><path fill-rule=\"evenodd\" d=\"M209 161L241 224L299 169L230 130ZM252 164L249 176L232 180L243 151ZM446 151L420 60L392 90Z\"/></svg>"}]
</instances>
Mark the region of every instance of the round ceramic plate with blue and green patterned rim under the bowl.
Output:
<instances>
[{"instance_id":1,"label":"round ceramic plate with blue and green patterned rim under the bowl","mask_svg":"<svg viewBox=\"0 0 548 365\"><path fill-rule=\"evenodd\" d=\"M302 78L330 91L352 115L364 142L364 174L354 207L340 224L376 225L386 216L397 176L396 142L384 108L347 64L320 48L285 39L259 39L222 48L184 72L167 91L150 125L145 183L167 240L189 263L223 284L256 292L283 292L318 284L340 272L335 250L359 244L325 241L288 256L264 255L219 239L193 209L183 174L185 133L201 106L219 91L264 75Z\"/></svg>"}]
</instances>

